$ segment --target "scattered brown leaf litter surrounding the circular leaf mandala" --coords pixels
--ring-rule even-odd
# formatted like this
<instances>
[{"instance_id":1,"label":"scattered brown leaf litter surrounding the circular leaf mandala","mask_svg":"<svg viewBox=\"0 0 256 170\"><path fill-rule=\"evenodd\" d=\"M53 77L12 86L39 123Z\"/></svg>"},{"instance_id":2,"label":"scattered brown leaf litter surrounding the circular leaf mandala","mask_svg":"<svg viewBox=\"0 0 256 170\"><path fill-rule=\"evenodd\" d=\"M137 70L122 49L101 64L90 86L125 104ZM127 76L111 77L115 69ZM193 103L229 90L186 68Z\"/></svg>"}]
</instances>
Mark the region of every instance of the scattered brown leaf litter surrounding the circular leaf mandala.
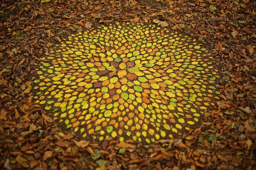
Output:
<instances>
[{"instance_id":1,"label":"scattered brown leaf litter surrounding the circular leaf mandala","mask_svg":"<svg viewBox=\"0 0 256 170\"><path fill-rule=\"evenodd\" d=\"M246 0L232 3L59 0L42 4L4 1L0 7L1 166L6 169L255 168L256 28L252 17L255 5L254 1ZM200 126L179 137L148 145L133 139L123 142L109 139L100 144L81 140L72 131L63 131L49 112L32 103L31 84L35 76L31 75L35 75L41 56L52 44L61 42L71 32L76 34L120 20L133 24L164 23L159 26L196 37L211 49L223 77L218 80L220 100L204 113ZM129 77L137 80L134 75Z\"/></svg>"}]
</instances>

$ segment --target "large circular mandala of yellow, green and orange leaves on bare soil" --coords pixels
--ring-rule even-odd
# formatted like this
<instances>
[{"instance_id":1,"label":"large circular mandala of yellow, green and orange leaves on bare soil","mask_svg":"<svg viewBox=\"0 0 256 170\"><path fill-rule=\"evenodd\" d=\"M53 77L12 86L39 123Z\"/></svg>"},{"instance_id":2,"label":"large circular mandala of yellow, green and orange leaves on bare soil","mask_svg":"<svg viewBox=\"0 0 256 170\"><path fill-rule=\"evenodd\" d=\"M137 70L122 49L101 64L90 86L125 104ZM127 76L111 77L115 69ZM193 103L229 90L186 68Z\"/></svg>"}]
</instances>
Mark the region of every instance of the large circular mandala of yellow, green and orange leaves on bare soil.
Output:
<instances>
[{"instance_id":1,"label":"large circular mandala of yellow, green and orange leaves on bare soil","mask_svg":"<svg viewBox=\"0 0 256 170\"><path fill-rule=\"evenodd\" d=\"M195 39L156 25L117 22L72 34L41 64L35 103L99 141L173 138L218 99L211 54Z\"/></svg>"}]
</instances>

